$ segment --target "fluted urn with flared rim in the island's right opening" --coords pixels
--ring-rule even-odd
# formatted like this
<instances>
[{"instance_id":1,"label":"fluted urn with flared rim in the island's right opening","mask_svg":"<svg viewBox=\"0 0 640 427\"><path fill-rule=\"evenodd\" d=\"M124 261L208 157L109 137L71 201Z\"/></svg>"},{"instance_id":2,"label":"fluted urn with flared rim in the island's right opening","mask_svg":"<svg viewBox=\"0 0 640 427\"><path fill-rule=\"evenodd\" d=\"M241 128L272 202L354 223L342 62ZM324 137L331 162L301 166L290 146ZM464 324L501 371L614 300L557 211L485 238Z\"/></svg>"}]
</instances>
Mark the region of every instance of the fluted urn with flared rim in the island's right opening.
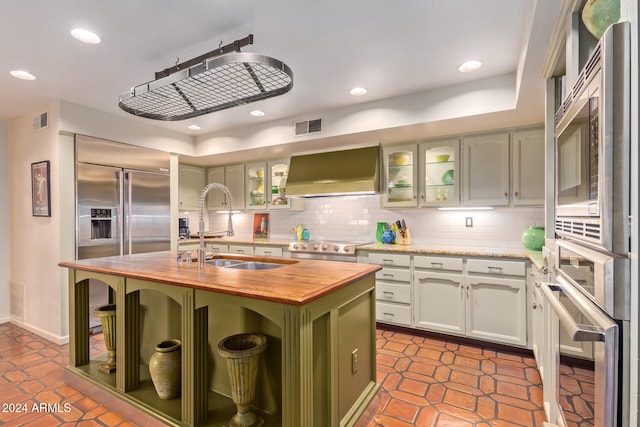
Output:
<instances>
[{"instance_id":1,"label":"fluted urn with flared rim in the island's right opening","mask_svg":"<svg viewBox=\"0 0 640 427\"><path fill-rule=\"evenodd\" d=\"M226 360L231 398L238 412L229 427L256 427L264 420L249 410L256 389L258 362L267 348L267 338L259 334L232 335L218 343L218 354Z\"/></svg>"}]
</instances>

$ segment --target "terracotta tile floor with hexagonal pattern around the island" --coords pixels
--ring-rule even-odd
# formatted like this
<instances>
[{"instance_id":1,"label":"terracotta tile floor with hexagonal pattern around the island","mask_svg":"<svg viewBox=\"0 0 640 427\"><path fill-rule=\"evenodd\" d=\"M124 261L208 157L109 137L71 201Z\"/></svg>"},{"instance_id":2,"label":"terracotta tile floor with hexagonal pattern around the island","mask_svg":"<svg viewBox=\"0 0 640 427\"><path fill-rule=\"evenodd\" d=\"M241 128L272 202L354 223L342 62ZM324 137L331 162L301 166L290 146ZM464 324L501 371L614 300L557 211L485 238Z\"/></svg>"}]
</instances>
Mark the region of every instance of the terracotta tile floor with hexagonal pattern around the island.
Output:
<instances>
[{"instance_id":1,"label":"terracotta tile floor with hexagonal pattern around the island","mask_svg":"<svg viewBox=\"0 0 640 427\"><path fill-rule=\"evenodd\" d=\"M542 386L532 357L377 331L380 392L357 427L539 426ZM92 351L103 352L92 338ZM133 426L63 379L68 346L0 325L0 425Z\"/></svg>"}]
</instances>

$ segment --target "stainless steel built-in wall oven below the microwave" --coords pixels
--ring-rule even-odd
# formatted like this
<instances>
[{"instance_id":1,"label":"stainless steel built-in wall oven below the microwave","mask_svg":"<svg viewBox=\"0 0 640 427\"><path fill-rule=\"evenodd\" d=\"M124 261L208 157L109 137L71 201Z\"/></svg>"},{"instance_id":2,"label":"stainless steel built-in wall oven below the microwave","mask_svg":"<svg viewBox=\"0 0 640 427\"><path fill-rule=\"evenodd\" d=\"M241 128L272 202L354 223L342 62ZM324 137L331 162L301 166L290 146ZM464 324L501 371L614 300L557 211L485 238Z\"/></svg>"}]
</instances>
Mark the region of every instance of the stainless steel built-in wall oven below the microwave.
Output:
<instances>
[{"instance_id":1,"label":"stainless steel built-in wall oven below the microwave","mask_svg":"<svg viewBox=\"0 0 640 427\"><path fill-rule=\"evenodd\" d=\"M628 425L628 258L568 240L555 247L555 279L539 284L553 308L560 426Z\"/></svg>"}]
</instances>

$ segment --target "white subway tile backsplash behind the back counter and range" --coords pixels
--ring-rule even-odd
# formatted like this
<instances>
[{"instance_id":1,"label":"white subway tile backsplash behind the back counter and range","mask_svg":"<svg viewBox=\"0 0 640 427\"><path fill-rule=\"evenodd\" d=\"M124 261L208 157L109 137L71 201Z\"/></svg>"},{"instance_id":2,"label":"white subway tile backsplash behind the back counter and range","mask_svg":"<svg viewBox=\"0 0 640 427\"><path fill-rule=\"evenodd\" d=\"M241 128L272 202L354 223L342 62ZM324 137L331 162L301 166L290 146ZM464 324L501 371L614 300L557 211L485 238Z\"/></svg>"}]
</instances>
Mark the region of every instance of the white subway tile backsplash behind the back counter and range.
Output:
<instances>
[{"instance_id":1,"label":"white subway tile backsplash behind the back counter and range","mask_svg":"<svg viewBox=\"0 0 640 427\"><path fill-rule=\"evenodd\" d=\"M253 212L234 214L236 235L250 237ZM191 231L198 231L198 214L189 213ZM467 227L471 218L472 227ZM312 198L303 211L270 211L270 237L293 238L293 227L309 229L311 240L375 241L377 222L404 219L414 244L436 248L478 248L519 251L520 235L529 225L544 225L542 207L496 208L493 210L440 211L437 209L382 209L380 196ZM225 230L227 214L211 212L206 230ZM209 226L209 223L211 226Z\"/></svg>"}]
</instances>

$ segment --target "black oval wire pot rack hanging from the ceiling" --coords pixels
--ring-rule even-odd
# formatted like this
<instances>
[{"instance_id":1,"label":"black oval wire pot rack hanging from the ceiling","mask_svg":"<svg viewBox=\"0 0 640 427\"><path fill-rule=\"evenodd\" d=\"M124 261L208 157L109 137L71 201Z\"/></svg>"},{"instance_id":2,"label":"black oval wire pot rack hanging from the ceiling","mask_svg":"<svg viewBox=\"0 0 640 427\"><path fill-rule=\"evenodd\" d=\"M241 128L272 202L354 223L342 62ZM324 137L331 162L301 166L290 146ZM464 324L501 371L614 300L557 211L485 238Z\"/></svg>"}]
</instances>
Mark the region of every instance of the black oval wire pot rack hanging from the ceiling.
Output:
<instances>
[{"instance_id":1,"label":"black oval wire pot rack hanging from the ceiling","mask_svg":"<svg viewBox=\"0 0 640 427\"><path fill-rule=\"evenodd\" d=\"M282 61L240 52L253 35L155 73L155 80L120 96L122 110L154 120L176 121L282 95L293 72Z\"/></svg>"}]
</instances>

